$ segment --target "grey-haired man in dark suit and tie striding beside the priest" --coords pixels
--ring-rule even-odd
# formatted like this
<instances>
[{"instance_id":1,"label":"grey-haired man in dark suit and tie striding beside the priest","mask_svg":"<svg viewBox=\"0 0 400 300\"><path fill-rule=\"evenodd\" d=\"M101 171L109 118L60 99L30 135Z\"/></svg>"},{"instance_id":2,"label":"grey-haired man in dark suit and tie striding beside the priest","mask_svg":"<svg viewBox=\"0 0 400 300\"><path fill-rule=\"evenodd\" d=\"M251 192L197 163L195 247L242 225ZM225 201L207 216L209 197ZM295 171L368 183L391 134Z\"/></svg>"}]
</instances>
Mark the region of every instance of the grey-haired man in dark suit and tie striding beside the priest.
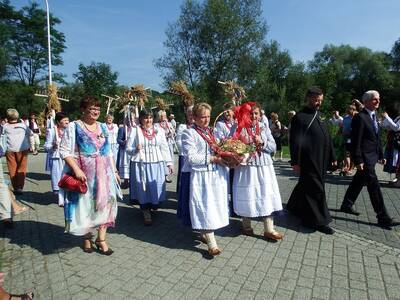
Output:
<instances>
[{"instance_id":1,"label":"grey-haired man in dark suit and tie striding beside the priest","mask_svg":"<svg viewBox=\"0 0 400 300\"><path fill-rule=\"evenodd\" d=\"M363 186L366 185L378 225L385 229L391 229L398 223L389 217L375 173L376 163L385 163L376 115L380 103L379 93L367 91L364 93L362 101L364 108L353 117L351 122L351 155L357 172L346 191L340 210L358 216L359 213L353 208L353 205Z\"/></svg>"}]
</instances>

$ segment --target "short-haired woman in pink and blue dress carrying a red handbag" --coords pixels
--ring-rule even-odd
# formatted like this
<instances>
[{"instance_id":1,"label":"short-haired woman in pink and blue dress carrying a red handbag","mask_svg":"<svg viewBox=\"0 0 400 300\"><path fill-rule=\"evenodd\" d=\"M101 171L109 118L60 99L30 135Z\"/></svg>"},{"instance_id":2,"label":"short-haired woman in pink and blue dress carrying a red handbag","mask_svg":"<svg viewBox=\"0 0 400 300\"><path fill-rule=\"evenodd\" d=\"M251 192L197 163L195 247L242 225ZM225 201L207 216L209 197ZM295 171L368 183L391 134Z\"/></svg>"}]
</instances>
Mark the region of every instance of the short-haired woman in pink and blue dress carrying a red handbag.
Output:
<instances>
[{"instance_id":1,"label":"short-haired woman in pink and blue dress carrying a red handbag","mask_svg":"<svg viewBox=\"0 0 400 300\"><path fill-rule=\"evenodd\" d=\"M111 152L108 129L97 122L100 102L87 97L80 104L81 119L71 122L60 145L65 160L64 172L86 182L85 194L64 191L66 231L84 236L83 250L93 252L92 234L97 230L94 244L99 253L111 255L106 242L108 227L115 225L117 199L121 198L119 176Z\"/></svg>"}]
</instances>

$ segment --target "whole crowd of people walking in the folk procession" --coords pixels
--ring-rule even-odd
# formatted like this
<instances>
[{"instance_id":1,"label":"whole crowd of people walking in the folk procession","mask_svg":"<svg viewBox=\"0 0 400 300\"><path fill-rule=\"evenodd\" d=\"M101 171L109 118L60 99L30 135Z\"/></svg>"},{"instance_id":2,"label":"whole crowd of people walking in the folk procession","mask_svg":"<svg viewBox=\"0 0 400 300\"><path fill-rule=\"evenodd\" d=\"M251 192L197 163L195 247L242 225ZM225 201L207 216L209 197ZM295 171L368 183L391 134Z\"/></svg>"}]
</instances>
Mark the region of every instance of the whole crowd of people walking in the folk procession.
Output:
<instances>
[{"instance_id":1,"label":"whole crowd of people walking in the folk procession","mask_svg":"<svg viewBox=\"0 0 400 300\"><path fill-rule=\"evenodd\" d=\"M146 109L137 116L127 115L118 126L111 115L99 122L101 103L96 98L83 99L79 120L70 121L67 114L58 112L45 135L45 169L51 174L58 205L64 209L65 231L83 237L84 252L97 249L111 255L106 233L116 225L121 189L129 188L129 202L139 204L143 224L150 226L166 200L171 174L177 173L177 217L199 233L210 255L221 253L214 231L228 226L233 215L242 220L242 234L254 235L251 221L257 219L264 223L262 235L279 241L284 235L275 229L274 217L282 214L283 206L273 161L282 160L282 139L287 135L290 164L299 175L287 210L305 226L333 234L325 178L338 168L338 159L329 126L337 127L343 139L342 173L352 175L357 170L340 210L358 215L354 203L367 185L378 224L386 229L396 226L385 207L375 164L384 164L385 171L395 174L392 186L400 186L400 112L397 116L384 112L378 118L377 91L367 91L361 102L353 100L343 118L334 111L331 119L324 120L322 102L322 90L308 89L304 108L288 113L287 127L276 113L268 120L256 102L242 104L248 122L239 122L237 107L228 103L213 128L212 108L207 103L185 106L185 120L178 126L172 114L168 120L164 110L154 114ZM388 130L385 152L382 128ZM12 187L0 169L0 216L12 227L12 216L27 210L14 194L23 193L28 152L37 154L40 127L33 114L25 123L15 109L8 109L0 132L0 150L6 157ZM251 145L254 151L237 163L229 162L220 149L221 142L228 139ZM177 168L175 153L179 156Z\"/></svg>"}]
</instances>

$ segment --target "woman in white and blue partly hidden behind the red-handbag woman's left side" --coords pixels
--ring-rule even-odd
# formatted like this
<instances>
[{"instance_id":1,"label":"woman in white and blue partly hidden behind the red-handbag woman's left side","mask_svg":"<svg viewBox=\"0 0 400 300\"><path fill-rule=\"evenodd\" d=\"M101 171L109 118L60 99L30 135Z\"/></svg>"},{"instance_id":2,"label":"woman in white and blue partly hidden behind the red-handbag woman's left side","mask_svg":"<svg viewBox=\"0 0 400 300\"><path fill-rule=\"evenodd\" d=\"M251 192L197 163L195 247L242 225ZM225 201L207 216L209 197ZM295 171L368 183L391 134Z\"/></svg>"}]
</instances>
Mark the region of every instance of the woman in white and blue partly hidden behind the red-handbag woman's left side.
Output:
<instances>
[{"instance_id":1,"label":"woman in white and blue partly hidden behind the red-handbag woman's left side","mask_svg":"<svg viewBox=\"0 0 400 300\"><path fill-rule=\"evenodd\" d=\"M55 123L55 126L46 130L44 149L49 156L48 167L51 176L51 188L53 193L58 196L58 205L64 206L64 195L59 193L58 182L64 169L64 160L60 156L60 142L69 124L68 116L63 112L56 113Z\"/></svg>"}]
</instances>

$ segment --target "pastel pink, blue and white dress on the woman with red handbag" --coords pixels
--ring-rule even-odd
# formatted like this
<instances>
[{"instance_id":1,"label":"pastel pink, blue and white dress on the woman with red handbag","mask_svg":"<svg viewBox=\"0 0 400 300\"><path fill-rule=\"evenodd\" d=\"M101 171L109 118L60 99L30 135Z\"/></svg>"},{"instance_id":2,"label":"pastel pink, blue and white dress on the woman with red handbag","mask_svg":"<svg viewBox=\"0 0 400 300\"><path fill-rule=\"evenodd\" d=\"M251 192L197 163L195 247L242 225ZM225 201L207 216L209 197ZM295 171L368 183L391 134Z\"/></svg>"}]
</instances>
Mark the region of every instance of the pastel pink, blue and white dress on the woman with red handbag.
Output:
<instances>
[{"instance_id":1,"label":"pastel pink, blue and white dress on the woman with red handbag","mask_svg":"<svg viewBox=\"0 0 400 300\"><path fill-rule=\"evenodd\" d=\"M60 156L73 156L85 173L86 194L63 191L66 231L85 235L99 228L113 227L117 217L117 200L122 193L114 171L108 129L97 122L92 132L83 122L71 122L60 144ZM66 164L64 172L70 172Z\"/></svg>"}]
</instances>

